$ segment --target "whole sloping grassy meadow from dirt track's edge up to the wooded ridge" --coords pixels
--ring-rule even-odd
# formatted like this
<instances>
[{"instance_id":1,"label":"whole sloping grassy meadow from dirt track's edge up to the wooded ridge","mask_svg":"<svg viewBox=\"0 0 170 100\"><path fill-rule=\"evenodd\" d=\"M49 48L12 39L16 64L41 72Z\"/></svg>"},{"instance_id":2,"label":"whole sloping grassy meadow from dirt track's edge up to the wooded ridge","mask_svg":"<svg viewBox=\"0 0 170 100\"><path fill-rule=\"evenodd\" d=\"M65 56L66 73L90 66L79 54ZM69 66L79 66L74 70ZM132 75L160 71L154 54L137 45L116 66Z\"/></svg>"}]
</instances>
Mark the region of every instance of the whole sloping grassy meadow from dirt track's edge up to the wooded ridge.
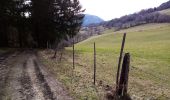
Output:
<instances>
[{"instance_id":1,"label":"whole sloping grassy meadow from dirt track's edge up to the wooded ridge","mask_svg":"<svg viewBox=\"0 0 170 100\"><path fill-rule=\"evenodd\" d=\"M124 53L131 54L129 89L132 99L170 99L170 24L146 24L91 37L60 52L42 51L42 60L76 100L104 100L105 87L114 88L122 36L127 32ZM96 43L97 73L93 85L93 43Z\"/></svg>"}]
</instances>

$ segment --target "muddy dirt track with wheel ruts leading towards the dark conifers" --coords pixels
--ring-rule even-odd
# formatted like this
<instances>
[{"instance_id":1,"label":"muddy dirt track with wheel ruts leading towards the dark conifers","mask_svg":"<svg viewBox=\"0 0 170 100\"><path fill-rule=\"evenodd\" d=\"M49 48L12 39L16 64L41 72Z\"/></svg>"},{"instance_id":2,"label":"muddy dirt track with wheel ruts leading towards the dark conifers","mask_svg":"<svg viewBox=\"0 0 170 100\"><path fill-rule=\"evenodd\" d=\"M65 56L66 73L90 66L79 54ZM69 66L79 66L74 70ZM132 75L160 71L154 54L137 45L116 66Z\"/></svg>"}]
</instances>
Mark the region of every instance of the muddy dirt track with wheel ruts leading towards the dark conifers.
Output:
<instances>
[{"instance_id":1,"label":"muddy dirt track with wheel ruts leading towards the dark conifers","mask_svg":"<svg viewBox=\"0 0 170 100\"><path fill-rule=\"evenodd\" d=\"M33 51L3 58L0 80L0 100L73 100Z\"/></svg>"}]
</instances>

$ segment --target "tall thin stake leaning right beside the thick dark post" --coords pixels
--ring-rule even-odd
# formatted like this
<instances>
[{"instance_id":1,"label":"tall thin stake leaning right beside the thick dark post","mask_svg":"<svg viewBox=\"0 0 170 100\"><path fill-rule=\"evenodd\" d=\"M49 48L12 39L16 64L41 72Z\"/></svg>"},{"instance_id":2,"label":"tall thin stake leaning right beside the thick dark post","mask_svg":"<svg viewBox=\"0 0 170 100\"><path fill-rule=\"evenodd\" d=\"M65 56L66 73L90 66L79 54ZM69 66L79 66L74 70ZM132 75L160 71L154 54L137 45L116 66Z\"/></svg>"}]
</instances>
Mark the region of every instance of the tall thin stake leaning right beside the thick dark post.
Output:
<instances>
[{"instance_id":1,"label":"tall thin stake leaning right beside the thick dark post","mask_svg":"<svg viewBox=\"0 0 170 100\"><path fill-rule=\"evenodd\" d=\"M120 56L119 56L118 69L117 69L117 77L116 77L116 90L118 89L120 65L121 65L121 61L122 61L122 54L123 54L125 39L126 39L126 33L124 33L124 35L123 35L121 51L120 51Z\"/></svg>"}]
</instances>

